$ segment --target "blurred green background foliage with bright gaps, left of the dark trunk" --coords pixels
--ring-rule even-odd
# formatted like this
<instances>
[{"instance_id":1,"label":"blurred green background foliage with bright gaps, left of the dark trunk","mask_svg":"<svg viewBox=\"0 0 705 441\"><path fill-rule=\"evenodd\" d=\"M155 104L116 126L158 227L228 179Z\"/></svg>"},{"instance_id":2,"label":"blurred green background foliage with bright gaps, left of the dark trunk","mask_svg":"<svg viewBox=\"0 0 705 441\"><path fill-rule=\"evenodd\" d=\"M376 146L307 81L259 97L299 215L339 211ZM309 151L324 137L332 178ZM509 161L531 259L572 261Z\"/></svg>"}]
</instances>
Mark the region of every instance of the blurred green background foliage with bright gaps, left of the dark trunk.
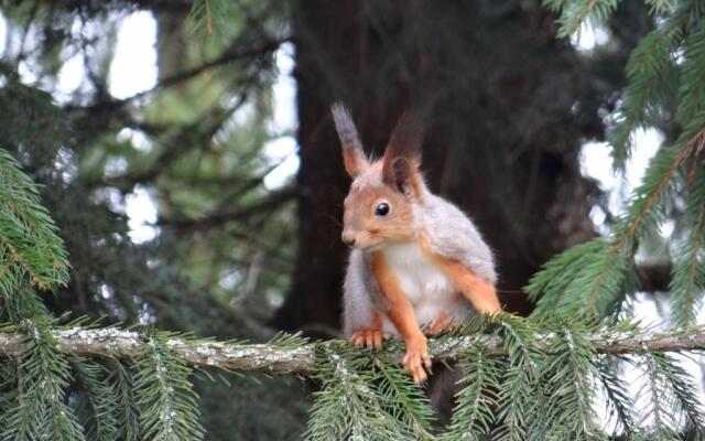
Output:
<instances>
[{"instance_id":1,"label":"blurred green background foliage with bright gaps, left of the dark trunk","mask_svg":"<svg viewBox=\"0 0 705 441\"><path fill-rule=\"evenodd\" d=\"M294 261L291 183L262 183L280 161L263 146L291 135L272 123L274 53L290 37L289 12L241 2L217 37L204 37L191 9L3 2L0 139L43 185L69 252L69 283L46 298L53 311L268 340L274 332L265 322ZM156 24L156 82L116 96L119 30L140 11ZM83 77L66 90L70 60L83 64ZM152 225L135 236L130 215ZM230 381L197 380L210 439L296 439L305 429L303 381Z\"/></svg>"}]
</instances>

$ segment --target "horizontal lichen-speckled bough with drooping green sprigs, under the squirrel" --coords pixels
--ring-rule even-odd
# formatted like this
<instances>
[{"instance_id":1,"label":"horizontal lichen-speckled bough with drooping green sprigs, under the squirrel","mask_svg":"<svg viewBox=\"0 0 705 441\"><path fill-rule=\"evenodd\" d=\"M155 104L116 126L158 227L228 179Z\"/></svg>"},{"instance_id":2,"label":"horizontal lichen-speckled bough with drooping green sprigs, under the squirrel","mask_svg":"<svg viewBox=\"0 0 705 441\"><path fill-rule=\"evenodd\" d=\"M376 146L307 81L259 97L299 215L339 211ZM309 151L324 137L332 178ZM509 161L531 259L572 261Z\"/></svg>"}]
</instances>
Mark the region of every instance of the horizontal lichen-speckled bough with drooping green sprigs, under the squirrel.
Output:
<instances>
[{"instance_id":1,"label":"horizontal lichen-speckled bough with drooping green sprigs, under the squirrel","mask_svg":"<svg viewBox=\"0 0 705 441\"><path fill-rule=\"evenodd\" d=\"M46 353L37 352L45 342L52 342ZM25 378L56 378L52 397L62 396L65 378L76 377L90 398L87 409L59 409L58 415L66 417L52 428L73 434L57 439L83 439L82 427L86 433L89 428L90 433L116 439L129 428L149 434L148 439L202 439L191 377L193 369L213 368L318 380L322 389L315 394L308 432L314 440L355 435L452 440L484 434L498 440L558 440L566 434L592 439L608 437L610 430L701 433L704 419L694 380L668 354L704 348L703 326L654 332L629 322L476 318L464 329L430 342L434 362L457 361L464 378L452 424L446 433L438 433L422 389L401 369L403 348L397 341L387 342L379 352L360 351L337 340L310 343L295 335L248 344L85 323L37 325L29 319L0 332L2 363L24 366L32 373ZM30 361L32 366L45 364L53 370L30 367ZM637 396L615 374L620 363L646 366ZM120 385L116 378L126 375L123 369L132 374ZM30 386L18 404L39 400L41 390ZM11 428L8 433L13 435L46 428L31 423L46 418L42 410L46 406L45 401L19 406L3 427ZM619 423L608 426L598 416L600 406L615 409ZM32 434L25 439L33 439Z\"/></svg>"}]
</instances>

